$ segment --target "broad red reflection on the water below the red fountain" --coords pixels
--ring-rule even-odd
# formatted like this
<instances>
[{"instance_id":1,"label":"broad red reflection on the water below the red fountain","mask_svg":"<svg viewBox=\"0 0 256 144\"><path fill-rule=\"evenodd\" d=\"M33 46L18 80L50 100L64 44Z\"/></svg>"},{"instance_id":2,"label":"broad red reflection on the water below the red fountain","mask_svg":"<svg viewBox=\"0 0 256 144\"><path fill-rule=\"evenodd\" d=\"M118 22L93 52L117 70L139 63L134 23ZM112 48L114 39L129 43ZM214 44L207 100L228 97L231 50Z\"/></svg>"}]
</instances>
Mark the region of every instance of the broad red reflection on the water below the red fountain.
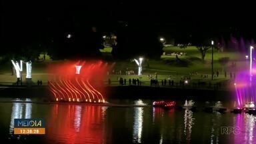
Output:
<instances>
[{"instance_id":1,"label":"broad red reflection on the water below the red fountain","mask_svg":"<svg viewBox=\"0 0 256 144\"><path fill-rule=\"evenodd\" d=\"M48 143L103 143L105 109L92 105L58 105L47 122Z\"/></svg>"}]
</instances>

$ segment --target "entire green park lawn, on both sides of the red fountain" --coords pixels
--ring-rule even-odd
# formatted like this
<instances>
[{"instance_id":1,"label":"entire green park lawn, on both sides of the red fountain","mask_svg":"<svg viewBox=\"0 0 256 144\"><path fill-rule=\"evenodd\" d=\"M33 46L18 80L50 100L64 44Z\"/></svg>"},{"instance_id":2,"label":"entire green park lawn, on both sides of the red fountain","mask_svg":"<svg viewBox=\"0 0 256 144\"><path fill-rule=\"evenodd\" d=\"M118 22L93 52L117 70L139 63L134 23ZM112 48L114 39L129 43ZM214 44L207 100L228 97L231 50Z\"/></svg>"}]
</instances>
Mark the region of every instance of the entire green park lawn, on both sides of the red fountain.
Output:
<instances>
[{"instance_id":1,"label":"entire green park lawn, on both sides of the red fountain","mask_svg":"<svg viewBox=\"0 0 256 144\"><path fill-rule=\"evenodd\" d=\"M101 50L103 53L107 53L111 55L111 47L106 47ZM164 47L164 51L167 53L173 52L182 52L187 53L185 56L180 56L182 63L177 62L175 56L171 55L162 55L161 59L153 60L147 59L143 61L143 76L139 78L137 75L111 75L111 79L117 79L117 77L127 77L128 78L139 78L143 81L150 81L147 75L159 75L159 80L161 79L175 79L177 81L180 80L181 77L189 76L189 73L197 72L198 75L191 76L192 81L201 79L201 75L208 74L210 77L211 74L211 49L207 51L205 56L205 61L201 61L201 54L197 50L196 47L187 47L186 49L180 49L179 47ZM236 62L237 67L240 69L244 69L247 67L244 53L235 53L235 52L219 52L214 51L214 71L219 71L220 77L218 80L224 81L227 78L224 78L224 71L237 71L238 69L231 69L230 65L233 61ZM229 57L230 61L226 65L219 63L219 59L222 57ZM42 55L41 55L42 58ZM51 63L63 63L64 61L51 61L49 57L47 57L47 61L34 62L33 63L33 81L42 80L43 83L48 81L48 73L47 73L47 65ZM115 71L122 71L125 74L125 70L133 70L135 74L137 74L137 65L133 60L119 60L119 61L107 61L109 65L115 63L114 69ZM24 67L25 69L25 67ZM109 71L111 73L111 71ZM25 70L23 72L25 74ZM228 74L229 75L229 74ZM25 77L25 76L23 76ZM222 77L222 78L221 78ZM109 77L108 77L109 78ZM105 79L107 81L107 79ZM11 63L5 63L0 67L0 82L15 82L15 76L11 76Z\"/></svg>"}]
</instances>

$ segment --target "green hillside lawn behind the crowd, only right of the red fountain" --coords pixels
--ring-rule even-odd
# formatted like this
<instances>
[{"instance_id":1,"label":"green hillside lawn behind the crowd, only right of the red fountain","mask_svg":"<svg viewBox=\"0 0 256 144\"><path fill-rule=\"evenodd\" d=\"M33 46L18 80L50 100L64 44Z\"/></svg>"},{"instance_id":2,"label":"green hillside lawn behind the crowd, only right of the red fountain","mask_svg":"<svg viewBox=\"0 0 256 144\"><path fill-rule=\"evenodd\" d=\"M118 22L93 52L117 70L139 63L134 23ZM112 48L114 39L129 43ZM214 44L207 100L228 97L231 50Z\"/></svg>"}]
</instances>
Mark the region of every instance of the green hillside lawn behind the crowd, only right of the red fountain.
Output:
<instances>
[{"instance_id":1,"label":"green hillside lawn behind the crowd, only right of the red fountain","mask_svg":"<svg viewBox=\"0 0 256 144\"><path fill-rule=\"evenodd\" d=\"M201 60L201 54L197 50L196 47L191 46L186 49L181 49L179 47L164 47L163 50L167 53L187 53L185 56L180 56L179 59L184 61L185 65L180 65L179 63L175 63L176 57L172 55L162 55L161 60L156 61L152 59L145 59L143 61L143 71L146 74L159 73L159 74L168 74L168 73L191 73L191 72L199 72L199 73L211 73L211 49L209 49L205 55L205 61ZM106 47L105 52L111 52L111 47ZM246 65L245 53L235 53L232 51L219 52L217 50L214 51L214 71L231 71L230 65L233 61L237 63L237 67L241 67L242 69ZM223 65L219 63L219 59L223 57L229 57L229 63ZM147 67L147 63L149 63L149 67ZM137 69L137 65L133 61L117 61L115 64L115 69L125 70Z\"/></svg>"}]
</instances>

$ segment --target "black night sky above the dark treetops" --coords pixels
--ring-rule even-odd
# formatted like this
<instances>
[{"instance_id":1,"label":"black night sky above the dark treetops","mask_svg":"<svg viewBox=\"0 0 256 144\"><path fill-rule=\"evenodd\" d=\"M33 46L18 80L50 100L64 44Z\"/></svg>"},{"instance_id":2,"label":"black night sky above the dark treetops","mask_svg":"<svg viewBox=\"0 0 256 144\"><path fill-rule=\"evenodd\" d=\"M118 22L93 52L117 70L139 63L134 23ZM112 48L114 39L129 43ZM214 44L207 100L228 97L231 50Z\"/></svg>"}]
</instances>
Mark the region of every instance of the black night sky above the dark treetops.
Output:
<instances>
[{"instance_id":1,"label":"black night sky above the dark treetops","mask_svg":"<svg viewBox=\"0 0 256 144\"><path fill-rule=\"evenodd\" d=\"M165 37L256 38L253 3L207 1L9 1L1 0L1 39L45 41L53 35L120 27L153 31ZM50 38L49 38L50 39Z\"/></svg>"}]
</instances>

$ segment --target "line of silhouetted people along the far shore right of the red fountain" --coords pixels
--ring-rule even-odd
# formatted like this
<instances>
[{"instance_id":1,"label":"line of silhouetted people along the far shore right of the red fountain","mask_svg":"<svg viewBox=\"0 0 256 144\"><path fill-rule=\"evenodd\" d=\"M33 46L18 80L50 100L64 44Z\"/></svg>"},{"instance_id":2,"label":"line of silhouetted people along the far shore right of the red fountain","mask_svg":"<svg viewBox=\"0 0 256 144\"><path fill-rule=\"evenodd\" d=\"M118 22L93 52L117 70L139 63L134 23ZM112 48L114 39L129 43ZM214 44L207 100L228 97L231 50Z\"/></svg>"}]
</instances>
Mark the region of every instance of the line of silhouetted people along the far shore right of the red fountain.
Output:
<instances>
[{"instance_id":1,"label":"line of silhouetted people along the far shore right of the red fountain","mask_svg":"<svg viewBox=\"0 0 256 144\"><path fill-rule=\"evenodd\" d=\"M220 77L221 74L224 77L229 76L230 81L233 81L236 77L235 72L230 72L228 75L227 71L223 71L223 73L220 73L219 71L215 71L213 73L214 79L217 79L217 77ZM129 75L129 71L125 71L125 73L123 73L123 75ZM211 79L211 75L209 75L209 74L201 75L197 71L189 72L189 75L180 76L180 79L178 77L179 77L179 73L177 73L177 75L169 75L169 77L167 77L166 79L163 79L163 78L159 79L157 73L155 73L153 75L151 75L151 74L147 75L147 78L149 80L145 80L145 81L141 81L140 79L133 79L133 78L127 79L127 77L126 77L126 79L123 77L117 77L117 80L119 81L119 85L138 85L139 86L139 85L141 85L141 83L144 83L144 85L150 85L151 87L160 87L160 86L161 87L169 87L169 86L170 87L184 87L186 85L189 85L189 87L221 88L221 87L224 87L225 85L229 85L229 84L225 83L225 81L217 82L217 83L212 83L212 81L205 82L203 80ZM195 79L195 77L197 77L199 79L197 79L197 78ZM145 84L145 83L148 83L148 84ZM110 79L109 79L109 85L111 85Z\"/></svg>"}]
</instances>

